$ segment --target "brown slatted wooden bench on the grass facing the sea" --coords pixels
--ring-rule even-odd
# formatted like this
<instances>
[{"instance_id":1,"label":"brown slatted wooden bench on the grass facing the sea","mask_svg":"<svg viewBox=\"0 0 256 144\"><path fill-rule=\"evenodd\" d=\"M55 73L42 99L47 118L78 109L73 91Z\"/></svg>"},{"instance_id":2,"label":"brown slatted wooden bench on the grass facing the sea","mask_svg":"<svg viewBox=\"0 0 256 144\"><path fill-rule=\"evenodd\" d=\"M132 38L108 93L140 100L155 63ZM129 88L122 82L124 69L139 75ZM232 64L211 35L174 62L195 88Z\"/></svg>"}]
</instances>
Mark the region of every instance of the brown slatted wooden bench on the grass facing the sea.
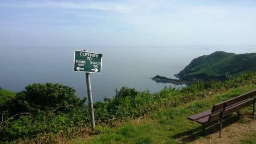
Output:
<instances>
[{"instance_id":1,"label":"brown slatted wooden bench on the grass facing the sea","mask_svg":"<svg viewBox=\"0 0 256 144\"><path fill-rule=\"evenodd\" d=\"M195 114L187 117L191 121L201 123L203 126L213 121L219 120L219 137L221 137L222 119L223 117L237 112L239 116L239 110L244 107L253 105L253 119L255 111L256 90L249 93L239 95L238 97L231 98L227 101L218 103L213 106L211 110L204 111L203 113Z\"/></svg>"}]
</instances>

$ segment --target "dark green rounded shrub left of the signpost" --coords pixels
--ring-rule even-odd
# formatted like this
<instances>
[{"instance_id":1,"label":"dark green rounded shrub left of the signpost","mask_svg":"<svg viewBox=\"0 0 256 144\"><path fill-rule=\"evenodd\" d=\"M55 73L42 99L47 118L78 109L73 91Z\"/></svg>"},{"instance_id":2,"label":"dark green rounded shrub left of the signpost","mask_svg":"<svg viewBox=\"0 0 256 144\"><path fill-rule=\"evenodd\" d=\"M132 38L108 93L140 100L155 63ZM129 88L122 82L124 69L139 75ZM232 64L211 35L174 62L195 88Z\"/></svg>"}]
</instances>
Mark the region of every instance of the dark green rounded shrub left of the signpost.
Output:
<instances>
[{"instance_id":1,"label":"dark green rounded shrub left of the signpost","mask_svg":"<svg viewBox=\"0 0 256 144\"><path fill-rule=\"evenodd\" d=\"M62 111L67 112L73 107L81 107L86 99L79 99L74 94L73 87L64 86L59 83L33 83L25 87L16 97L3 103L0 109L7 110L9 115L17 113L37 111Z\"/></svg>"}]
</instances>

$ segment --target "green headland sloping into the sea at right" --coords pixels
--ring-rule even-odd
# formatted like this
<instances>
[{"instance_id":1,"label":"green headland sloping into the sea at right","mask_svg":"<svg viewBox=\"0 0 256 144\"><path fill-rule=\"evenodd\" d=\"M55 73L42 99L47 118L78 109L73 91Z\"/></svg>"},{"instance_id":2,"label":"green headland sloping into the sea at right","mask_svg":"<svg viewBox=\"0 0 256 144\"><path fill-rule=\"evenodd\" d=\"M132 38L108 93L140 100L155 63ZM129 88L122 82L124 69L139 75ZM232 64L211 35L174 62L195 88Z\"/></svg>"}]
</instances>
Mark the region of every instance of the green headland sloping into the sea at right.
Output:
<instances>
[{"instance_id":1,"label":"green headland sloping into the sea at right","mask_svg":"<svg viewBox=\"0 0 256 144\"><path fill-rule=\"evenodd\" d=\"M226 75L237 76L256 70L256 53L234 54L216 51L193 59L180 73L181 80L225 79Z\"/></svg>"}]
</instances>

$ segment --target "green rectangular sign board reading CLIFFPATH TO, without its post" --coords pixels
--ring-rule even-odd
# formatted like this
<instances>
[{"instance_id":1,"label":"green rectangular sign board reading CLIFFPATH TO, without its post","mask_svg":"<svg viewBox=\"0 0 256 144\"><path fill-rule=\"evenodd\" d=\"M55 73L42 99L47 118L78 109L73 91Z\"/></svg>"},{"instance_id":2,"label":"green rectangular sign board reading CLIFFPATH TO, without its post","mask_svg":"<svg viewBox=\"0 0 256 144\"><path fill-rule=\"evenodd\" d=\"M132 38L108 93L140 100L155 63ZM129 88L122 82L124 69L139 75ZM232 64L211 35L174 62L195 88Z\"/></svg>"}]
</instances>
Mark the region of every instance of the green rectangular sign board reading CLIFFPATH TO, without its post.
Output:
<instances>
[{"instance_id":1,"label":"green rectangular sign board reading CLIFFPATH TO, without its post","mask_svg":"<svg viewBox=\"0 0 256 144\"><path fill-rule=\"evenodd\" d=\"M102 54L75 50L74 71L101 73Z\"/></svg>"}]
</instances>

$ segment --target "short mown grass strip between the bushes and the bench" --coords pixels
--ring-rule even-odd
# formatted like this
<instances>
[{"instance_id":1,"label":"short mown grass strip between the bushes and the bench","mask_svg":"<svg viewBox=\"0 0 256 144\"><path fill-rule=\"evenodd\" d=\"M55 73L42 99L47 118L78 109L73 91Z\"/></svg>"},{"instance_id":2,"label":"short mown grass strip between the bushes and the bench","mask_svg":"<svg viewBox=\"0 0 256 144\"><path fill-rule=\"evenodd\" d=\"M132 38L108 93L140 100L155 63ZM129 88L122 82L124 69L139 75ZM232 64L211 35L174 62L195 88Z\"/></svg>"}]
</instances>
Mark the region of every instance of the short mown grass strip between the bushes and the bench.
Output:
<instances>
[{"instance_id":1,"label":"short mown grass strip between the bushes and the bench","mask_svg":"<svg viewBox=\"0 0 256 144\"><path fill-rule=\"evenodd\" d=\"M192 142L214 131L202 131L202 126L187 120L187 117L200 113L218 102L236 97L253 90L256 85L247 85L225 93L214 95L201 101L162 109L148 117L127 120L121 126L104 129L101 134L90 139L74 139L74 143L180 143ZM232 118L232 117L230 117ZM216 131L215 131L216 132ZM254 135L253 135L254 136ZM253 138L253 136L251 138ZM250 138L244 141L254 141ZM255 142L255 141L254 141Z\"/></svg>"}]
</instances>

